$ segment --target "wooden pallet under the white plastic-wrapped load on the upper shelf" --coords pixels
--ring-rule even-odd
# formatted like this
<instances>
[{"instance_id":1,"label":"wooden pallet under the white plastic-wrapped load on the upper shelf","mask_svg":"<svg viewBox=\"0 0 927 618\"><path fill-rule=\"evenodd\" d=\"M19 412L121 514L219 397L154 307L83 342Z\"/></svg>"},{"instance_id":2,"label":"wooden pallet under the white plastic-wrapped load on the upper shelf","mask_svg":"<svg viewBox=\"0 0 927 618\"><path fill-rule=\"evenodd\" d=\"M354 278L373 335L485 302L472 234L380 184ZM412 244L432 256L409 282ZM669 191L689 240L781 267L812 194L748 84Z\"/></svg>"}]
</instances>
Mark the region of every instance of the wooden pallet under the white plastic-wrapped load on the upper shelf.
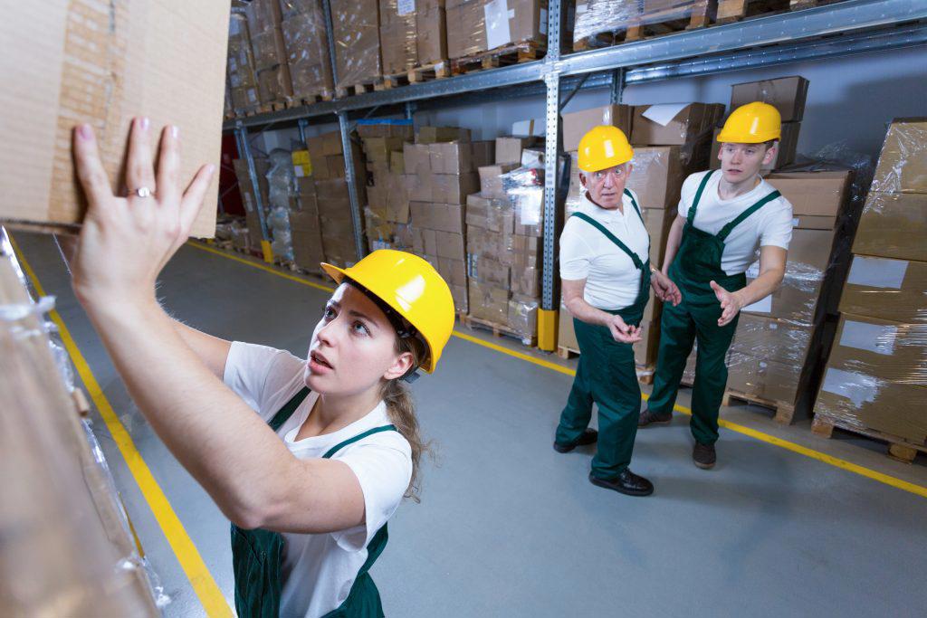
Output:
<instances>
[{"instance_id":1,"label":"wooden pallet under the white plastic-wrapped load on the upper shelf","mask_svg":"<svg viewBox=\"0 0 927 618\"><path fill-rule=\"evenodd\" d=\"M635 19L629 19L614 30L597 32L577 39L573 44L573 49L579 52L705 28L715 18L718 2L719 0L705 0L703 3L697 3L692 6L689 15L685 16L680 14L679 7L646 13Z\"/></svg>"}]
</instances>

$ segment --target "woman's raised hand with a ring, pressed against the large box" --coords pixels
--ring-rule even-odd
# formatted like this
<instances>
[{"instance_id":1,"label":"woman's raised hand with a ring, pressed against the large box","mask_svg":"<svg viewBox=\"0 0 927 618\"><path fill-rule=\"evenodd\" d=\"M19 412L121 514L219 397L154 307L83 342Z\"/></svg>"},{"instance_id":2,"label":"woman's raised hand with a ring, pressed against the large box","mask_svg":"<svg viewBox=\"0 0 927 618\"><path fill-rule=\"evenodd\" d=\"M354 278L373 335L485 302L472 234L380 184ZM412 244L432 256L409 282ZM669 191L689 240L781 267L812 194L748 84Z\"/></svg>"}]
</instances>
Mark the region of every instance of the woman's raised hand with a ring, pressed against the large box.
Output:
<instances>
[{"instance_id":1,"label":"woman's raised hand with a ring, pressed against the large box","mask_svg":"<svg viewBox=\"0 0 927 618\"><path fill-rule=\"evenodd\" d=\"M74 158L88 203L70 260L75 294L84 307L153 301L159 272L186 241L214 167L201 167L182 190L177 131L165 127L156 178L148 120L138 118L125 165L128 196L113 195L89 125L74 130ZM145 189L150 195L144 196Z\"/></svg>"}]
</instances>

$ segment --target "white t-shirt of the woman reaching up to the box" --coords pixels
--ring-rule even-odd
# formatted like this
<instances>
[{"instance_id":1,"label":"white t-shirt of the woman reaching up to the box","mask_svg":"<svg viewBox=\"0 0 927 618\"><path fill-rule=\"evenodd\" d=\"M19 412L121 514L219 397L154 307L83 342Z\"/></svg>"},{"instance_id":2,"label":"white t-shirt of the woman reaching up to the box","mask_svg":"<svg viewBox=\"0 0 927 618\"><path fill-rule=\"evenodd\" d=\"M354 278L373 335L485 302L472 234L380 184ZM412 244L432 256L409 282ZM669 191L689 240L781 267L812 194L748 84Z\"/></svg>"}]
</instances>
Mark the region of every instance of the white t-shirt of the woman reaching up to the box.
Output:
<instances>
[{"instance_id":1,"label":"white t-shirt of the woman reaching up to the box","mask_svg":"<svg viewBox=\"0 0 927 618\"><path fill-rule=\"evenodd\" d=\"M286 350L235 342L225 361L223 381L251 409L270 422L305 386L306 361ZM300 460L321 458L330 448L368 429L390 424L382 401L362 419L334 434L296 441L302 423L318 399L311 393L277 432ZM364 561L367 544L399 507L412 478L412 448L394 431L380 432L354 442L335 453L357 476L363 491L366 524L348 530L299 535L282 533L283 595L281 616L312 618L336 609L348 597Z\"/></svg>"}]
</instances>

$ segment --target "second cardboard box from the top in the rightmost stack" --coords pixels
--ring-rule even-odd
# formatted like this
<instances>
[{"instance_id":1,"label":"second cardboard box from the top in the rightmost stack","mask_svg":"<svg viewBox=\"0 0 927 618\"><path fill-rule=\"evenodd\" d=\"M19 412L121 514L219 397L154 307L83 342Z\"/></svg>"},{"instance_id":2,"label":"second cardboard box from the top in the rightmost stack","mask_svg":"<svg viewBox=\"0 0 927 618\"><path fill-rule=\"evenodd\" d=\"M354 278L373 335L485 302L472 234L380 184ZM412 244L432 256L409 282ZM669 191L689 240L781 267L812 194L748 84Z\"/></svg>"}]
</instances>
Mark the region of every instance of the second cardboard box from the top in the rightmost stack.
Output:
<instances>
[{"instance_id":1,"label":"second cardboard box from the top in the rightmost stack","mask_svg":"<svg viewBox=\"0 0 927 618\"><path fill-rule=\"evenodd\" d=\"M853 253L927 261L927 194L870 191Z\"/></svg>"}]
</instances>

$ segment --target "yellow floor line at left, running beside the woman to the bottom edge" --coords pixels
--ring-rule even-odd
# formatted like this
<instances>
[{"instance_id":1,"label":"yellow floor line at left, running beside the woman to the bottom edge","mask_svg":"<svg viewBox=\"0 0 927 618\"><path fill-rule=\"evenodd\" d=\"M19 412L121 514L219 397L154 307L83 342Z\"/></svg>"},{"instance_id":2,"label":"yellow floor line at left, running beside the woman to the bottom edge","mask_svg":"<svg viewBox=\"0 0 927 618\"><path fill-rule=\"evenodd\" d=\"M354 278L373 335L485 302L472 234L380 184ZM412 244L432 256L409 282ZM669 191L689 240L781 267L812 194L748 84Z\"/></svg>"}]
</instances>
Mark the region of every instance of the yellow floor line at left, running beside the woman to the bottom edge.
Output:
<instances>
[{"instance_id":1,"label":"yellow floor line at left, running beside the woman to the bottom edge","mask_svg":"<svg viewBox=\"0 0 927 618\"><path fill-rule=\"evenodd\" d=\"M32 271L32 266L30 266L25 256L23 256L16 241L12 238L10 241L19 257L19 263L32 280L35 291L39 295L45 296L44 288L35 275L35 272ZM197 593L197 597L203 604L203 608L206 610L207 615L216 617L232 616L232 609L226 602L225 597L222 596L222 590L219 589L216 581L212 578L210 570L206 567L206 563L199 555L197 546L193 544L193 541L190 540L190 536L186 534L184 524L181 523L180 518L177 517L177 513L175 513L171 507L171 502L168 501L167 496L164 495L164 492L158 485L158 481L155 480L145 460L142 459L141 453L135 448L132 436L126 431L125 426L121 423L119 417L116 416L116 412L103 393L103 389L100 388L99 383L96 382L94 373L91 371L86 359L83 358L83 353L80 348L74 343L73 337L70 336L68 327L65 326L64 321L61 320L61 316L58 315L55 309L49 311L48 317L57 325L58 334L61 335L61 341L68 350L70 359L73 361L74 367L81 376L81 380L83 380L83 385L86 387L90 397L94 400L96 410L98 410L100 416L103 417L103 422L106 423L109 433L116 442L116 446L119 448L122 457L125 458L126 465L129 467L129 471L132 473L135 483L138 484L138 488L142 491L142 496L145 497L148 506L155 515L155 519L158 520L161 531L164 533L164 536L167 537L168 543L171 544L171 549L173 549L174 554L177 556L177 561L180 562L181 568L184 569L184 574L186 574L187 578L190 580L190 585L193 586L194 591Z\"/></svg>"}]
</instances>

